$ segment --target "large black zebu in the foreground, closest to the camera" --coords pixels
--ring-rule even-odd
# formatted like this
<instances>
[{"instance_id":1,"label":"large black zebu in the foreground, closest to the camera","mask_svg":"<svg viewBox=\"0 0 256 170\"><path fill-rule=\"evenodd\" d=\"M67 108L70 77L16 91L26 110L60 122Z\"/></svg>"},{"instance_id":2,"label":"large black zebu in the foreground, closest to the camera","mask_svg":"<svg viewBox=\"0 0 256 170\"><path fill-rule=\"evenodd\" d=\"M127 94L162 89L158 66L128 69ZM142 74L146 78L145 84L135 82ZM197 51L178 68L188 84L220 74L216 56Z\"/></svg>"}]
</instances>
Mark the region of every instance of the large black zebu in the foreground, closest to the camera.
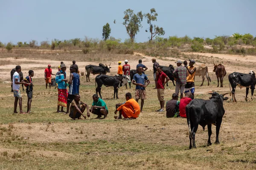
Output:
<instances>
[{"instance_id":1,"label":"large black zebu in the foreground, closest to the camera","mask_svg":"<svg viewBox=\"0 0 256 170\"><path fill-rule=\"evenodd\" d=\"M207 125L208 127L208 145L211 145L211 135L212 135L212 124L216 124L216 142L219 144L218 134L221 127L222 117L225 113L223 108L223 101L227 100L228 97L224 95L229 94L218 94L216 92L209 93L212 94L209 100L204 99L193 99L186 106L186 116L187 123L189 126L189 149L195 148L195 133L198 129L198 125L201 125L203 129ZM193 141L193 146L192 142Z\"/></svg>"}]
</instances>

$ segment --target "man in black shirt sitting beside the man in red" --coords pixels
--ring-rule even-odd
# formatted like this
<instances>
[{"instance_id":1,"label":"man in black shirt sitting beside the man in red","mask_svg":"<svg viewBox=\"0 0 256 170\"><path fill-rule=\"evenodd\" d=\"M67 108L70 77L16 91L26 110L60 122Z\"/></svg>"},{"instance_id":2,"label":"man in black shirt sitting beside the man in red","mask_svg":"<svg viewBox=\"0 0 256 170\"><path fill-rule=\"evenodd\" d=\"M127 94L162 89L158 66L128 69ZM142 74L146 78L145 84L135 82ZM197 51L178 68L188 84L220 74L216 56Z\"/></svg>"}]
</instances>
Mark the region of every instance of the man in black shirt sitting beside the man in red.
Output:
<instances>
[{"instance_id":1,"label":"man in black shirt sitting beside the man in red","mask_svg":"<svg viewBox=\"0 0 256 170\"><path fill-rule=\"evenodd\" d=\"M179 95L177 93L172 94L172 100L166 102L166 117L177 117L179 115L179 105L178 101Z\"/></svg>"}]
</instances>

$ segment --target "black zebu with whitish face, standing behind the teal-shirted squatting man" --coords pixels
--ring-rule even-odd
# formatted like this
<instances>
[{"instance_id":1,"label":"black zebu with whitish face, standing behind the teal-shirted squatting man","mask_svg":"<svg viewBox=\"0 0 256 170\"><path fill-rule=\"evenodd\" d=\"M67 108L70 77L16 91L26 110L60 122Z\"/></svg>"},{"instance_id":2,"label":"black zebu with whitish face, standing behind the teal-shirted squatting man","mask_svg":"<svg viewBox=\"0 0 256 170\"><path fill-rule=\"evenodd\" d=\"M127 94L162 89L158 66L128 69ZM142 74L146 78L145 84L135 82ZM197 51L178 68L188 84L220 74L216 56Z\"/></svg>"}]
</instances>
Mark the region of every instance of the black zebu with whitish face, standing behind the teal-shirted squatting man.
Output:
<instances>
[{"instance_id":1,"label":"black zebu with whitish face, standing behind the teal-shirted squatting man","mask_svg":"<svg viewBox=\"0 0 256 170\"><path fill-rule=\"evenodd\" d=\"M95 87L96 87L96 94L99 92L99 96L102 99L101 96L101 88L102 85L105 85L106 87L113 86L114 87L114 99L116 95L116 99L118 99L118 88L122 85L125 85L125 83L131 82L131 79L126 76L107 76L104 74L100 74L95 78Z\"/></svg>"}]
</instances>

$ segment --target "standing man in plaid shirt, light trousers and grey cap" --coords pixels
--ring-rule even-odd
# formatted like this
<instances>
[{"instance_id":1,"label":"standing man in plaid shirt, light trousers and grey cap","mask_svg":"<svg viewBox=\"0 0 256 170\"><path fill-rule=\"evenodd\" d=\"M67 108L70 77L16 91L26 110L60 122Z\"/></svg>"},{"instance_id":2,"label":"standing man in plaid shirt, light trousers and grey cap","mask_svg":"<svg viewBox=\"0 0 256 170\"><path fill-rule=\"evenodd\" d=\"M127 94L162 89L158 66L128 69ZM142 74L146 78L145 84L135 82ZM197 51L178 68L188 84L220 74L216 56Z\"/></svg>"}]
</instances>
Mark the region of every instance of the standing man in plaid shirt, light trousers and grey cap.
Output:
<instances>
[{"instance_id":1,"label":"standing man in plaid shirt, light trousers and grey cap","mask_svg":"<svg viewBox=\"0 0 256 170\"><path fill-rule=\"evenodd\" d=\"M183 67L181 64L182 62L178 60L177 62L177 68L173 71L173 74L176 75L175 81L176 81L176 86L175 86L175 93L179 94L180 92L180 99L183 97L183 92L185 89L186 85L186 77L187 77L187 69L186 67Z\"/></svg>"}]
</instances>

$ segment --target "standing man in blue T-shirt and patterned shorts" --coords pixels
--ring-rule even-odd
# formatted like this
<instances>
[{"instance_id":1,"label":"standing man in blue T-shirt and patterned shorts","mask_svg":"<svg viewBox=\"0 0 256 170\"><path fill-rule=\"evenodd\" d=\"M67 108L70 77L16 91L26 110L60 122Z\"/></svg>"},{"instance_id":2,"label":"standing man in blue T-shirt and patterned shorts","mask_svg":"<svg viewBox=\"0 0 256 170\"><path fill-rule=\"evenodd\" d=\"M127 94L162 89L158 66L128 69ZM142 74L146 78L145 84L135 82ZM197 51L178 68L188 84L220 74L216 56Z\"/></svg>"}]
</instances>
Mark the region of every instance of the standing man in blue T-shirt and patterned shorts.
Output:
<instances>
[{"instance_id":1,"label":"standing man in blue T-shirt and patterned shorts","mask_svg":"<svg viewBox=\"0 0 256 170\"><path fill-rule=\"evenodd\" d=\"M136 88L135 88L136 102L138 102L139 99L141 99L140 112L143 112L144 99L147 98L145 88L150 83L148 77L145 74L143 74L142 72L143 72L143 68L139 67L138 73L134 74L134 77L132 80L132 84L136 85ZM146 85L145 85L145 82L147 82Z\"/></svg>"}]
</instances>

